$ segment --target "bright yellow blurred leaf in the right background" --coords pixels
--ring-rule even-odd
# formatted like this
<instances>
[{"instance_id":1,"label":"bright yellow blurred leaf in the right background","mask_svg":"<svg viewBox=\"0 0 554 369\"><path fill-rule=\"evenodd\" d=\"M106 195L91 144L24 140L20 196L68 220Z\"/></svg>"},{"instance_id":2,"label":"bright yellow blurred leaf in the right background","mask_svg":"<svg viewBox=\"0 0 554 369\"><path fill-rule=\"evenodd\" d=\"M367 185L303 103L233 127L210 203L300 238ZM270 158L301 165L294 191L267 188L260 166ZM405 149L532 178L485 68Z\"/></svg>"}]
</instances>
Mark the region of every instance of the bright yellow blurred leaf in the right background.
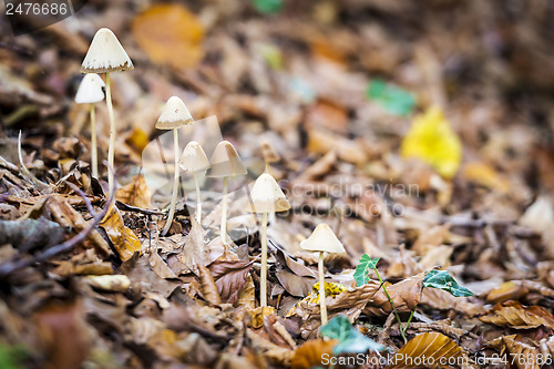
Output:
<instances>
[{"instance_id":1,"label":"bright yellow blurred leaf in the right background","mask_svg":"<svg viewBox=\"0 0 554 369\"><path fill-rule=\"evenodd\" d=\"M440 107L416 116L400 146L402 157L416 157L451 178L462 160L462 144Z\"/></svg>"}]
</instances>

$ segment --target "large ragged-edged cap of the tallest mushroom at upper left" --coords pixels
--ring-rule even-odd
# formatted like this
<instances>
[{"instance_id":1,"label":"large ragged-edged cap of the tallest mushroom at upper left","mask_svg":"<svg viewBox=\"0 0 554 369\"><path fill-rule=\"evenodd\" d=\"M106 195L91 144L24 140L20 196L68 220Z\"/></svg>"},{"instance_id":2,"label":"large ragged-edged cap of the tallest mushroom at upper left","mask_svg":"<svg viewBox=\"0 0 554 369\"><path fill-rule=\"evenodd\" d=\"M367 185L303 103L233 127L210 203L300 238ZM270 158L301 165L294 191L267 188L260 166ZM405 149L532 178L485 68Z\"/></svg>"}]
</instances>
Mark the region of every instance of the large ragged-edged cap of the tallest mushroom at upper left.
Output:
<instances>
[{"instance_id":1,"label":"large ragged-edged cap of the tallest mushroom at upper left","mask_svg":"<svg viewBox=\"0 0 554 369\"><path fill-rule=\"evenodd\" d=\"M92 39L81 64L81 73L106 73L134 69L120 40L107 28L101 28Z\"/></svg>"}]
</instances>

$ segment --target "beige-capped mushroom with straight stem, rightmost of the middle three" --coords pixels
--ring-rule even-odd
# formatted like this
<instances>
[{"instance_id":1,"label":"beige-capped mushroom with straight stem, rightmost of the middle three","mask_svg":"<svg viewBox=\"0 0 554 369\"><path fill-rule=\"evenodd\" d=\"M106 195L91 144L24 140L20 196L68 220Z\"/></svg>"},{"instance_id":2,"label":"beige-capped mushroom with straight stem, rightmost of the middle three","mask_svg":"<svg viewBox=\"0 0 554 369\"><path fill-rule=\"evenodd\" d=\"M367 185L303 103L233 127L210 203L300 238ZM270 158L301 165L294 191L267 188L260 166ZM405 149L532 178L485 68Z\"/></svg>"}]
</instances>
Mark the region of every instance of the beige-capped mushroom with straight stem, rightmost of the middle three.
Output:
<instances>
[{"instance_id":1,"label":"beige-capped mushroom with straight stem, rightmost of the middle three","mask_svg":"<svg viewBox=\"0 0 554 369\"><path fill-rule=\"evenodd\" d=\"M223 198L222 198L222 224L220 238L226 245L225 235L227 234L227 188L229 177L246 175L246 168L240 162L240 157L233 144L228 141L222 141L217 144L209 160L212 167L208 171L208 177L223 177Z\"/></svg>"}]
</instances>

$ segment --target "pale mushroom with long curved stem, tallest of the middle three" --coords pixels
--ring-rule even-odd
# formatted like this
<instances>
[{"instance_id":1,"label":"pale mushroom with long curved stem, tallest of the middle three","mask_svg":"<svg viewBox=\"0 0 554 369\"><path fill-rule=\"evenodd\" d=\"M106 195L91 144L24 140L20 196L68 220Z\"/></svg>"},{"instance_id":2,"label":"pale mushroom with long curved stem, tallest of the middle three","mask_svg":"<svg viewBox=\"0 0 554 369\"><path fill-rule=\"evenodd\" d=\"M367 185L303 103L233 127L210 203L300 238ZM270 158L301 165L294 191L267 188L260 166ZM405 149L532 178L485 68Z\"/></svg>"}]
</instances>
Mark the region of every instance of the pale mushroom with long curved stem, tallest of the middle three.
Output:
<instances>
[{"instance_id":1,"label":"pale mushroom with long curved stem, tallest of the middle three","mask_svg":"<svg viewBox=\"0 0 554 369\"><path fill-rule=\"evenodd\" d=\"M177 96L171 96L165 103L162 114L157 119L156 129L158 130L173 130L173 148L175 151L175 175L173 177L173 194L172 202L170 204L170 215L167 216L167 222L165 223L162 235L167 234L170 227L173 223L173 216L175 215L175 204L177 203L177 189L178 189L178 161L179 161L179 150L178 150L178 129L183 125L191 125L194 120L185 106L183 100Z\"/></svg>"}]
</instances>

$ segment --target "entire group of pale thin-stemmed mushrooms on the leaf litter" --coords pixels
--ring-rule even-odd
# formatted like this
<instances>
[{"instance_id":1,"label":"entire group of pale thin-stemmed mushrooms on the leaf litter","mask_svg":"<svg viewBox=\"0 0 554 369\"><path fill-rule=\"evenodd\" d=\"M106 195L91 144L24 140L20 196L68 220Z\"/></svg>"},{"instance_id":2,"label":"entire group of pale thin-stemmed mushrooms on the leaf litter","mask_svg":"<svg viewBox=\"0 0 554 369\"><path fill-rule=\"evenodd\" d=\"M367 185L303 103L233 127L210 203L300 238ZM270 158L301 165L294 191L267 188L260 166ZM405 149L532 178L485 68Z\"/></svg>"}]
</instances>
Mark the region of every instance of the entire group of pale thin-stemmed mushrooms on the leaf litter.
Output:
<instances>
[{"instance_id":1,"label":"entire group of pale thin-stemmed mushrooms on the leaf litter","mask_svg":"<svg viewBox=\"0 0 554 369\"><path fill-rule=\"evenodd\" d=\"M125 50L121 45L115 34L106 29L100 29L89 48L89 51L82 62L81 72L88 73L79 86L75 95L75 103L90 104L91 119L91 172L92 176L99 177L98 171L98 154L96 154L96 132L95 132L95 104L102 100L106 100L106 106L110 117L110 145L109 145L109 191L115 191L115 174L114 174L114 156L115 156L115 119L112 105L110 73L116 71L132 70L133 63ZM105 83L96 73L105 75ZM105 96L103 88L105 88ZM162 113L155 123L157 130L173 131L173 148L174 148L174 176L172 197L167 212L167 218L162 230L162 235L170 233L175 215L177 202L177 193L179 188L179 171L192 173L195 191L196 191L196 222L202 225L202 193L198 182L198 174L206 172L207 177L223 178L223 191L220 201L220 228L219 238L225 248L228 247L227 242L227 194L229 187L229 178L244 176L247 174L246 167L243 165L240 157L228 141L222 141L217 144L212 157L208 160L201 144L196 141L187 143L183 152L179 151L179 130L187 125L193 125L194 120L188 112L185 103L177 96L171 96ZM268 240L267 226L274 222L275 213L286 212L290 208L284 192L279 184L270 174L270 164L280 160L279 155L268 141L264 141L260 145L266 171L255 181L250 191L250 203L246 208L247 212L261 214L260 226L260 243L261 243L261 267L260 267L260 295L259 305L261 308L267 306L267 257L268 257ZM327 224L318 225L314 233L300 243L300 247L305 250L319 253L319 301L321 311L321 324L327 322L327 308L325 300L325 274L324 262L326 253L345 253L345 248L337 236L332 233Z\"/></svg>"}]
</instances>

